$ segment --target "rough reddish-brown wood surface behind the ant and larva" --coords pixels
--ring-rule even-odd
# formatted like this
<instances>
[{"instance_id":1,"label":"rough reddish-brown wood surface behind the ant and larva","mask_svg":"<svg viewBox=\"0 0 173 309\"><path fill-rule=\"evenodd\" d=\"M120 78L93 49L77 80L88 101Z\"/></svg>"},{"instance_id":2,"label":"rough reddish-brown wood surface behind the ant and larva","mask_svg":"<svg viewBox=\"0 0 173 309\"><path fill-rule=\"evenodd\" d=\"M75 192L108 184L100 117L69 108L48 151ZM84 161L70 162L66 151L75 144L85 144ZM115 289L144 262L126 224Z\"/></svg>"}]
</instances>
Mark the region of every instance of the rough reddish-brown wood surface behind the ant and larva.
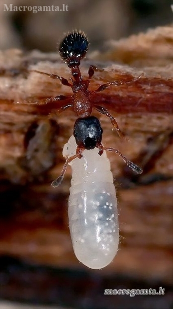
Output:
<instances>
[{"instance_id":1,"label":"rough reddish-brown wood surface behind the ant and larva","mask_svg":"<svg viewBox=\"0 0 173 309\"><path fill-rule=\"evenodd\" d=\"M119 139L109 120L94 112L103 128L103 144L117 148L144 169L143 174L135 175L121 158L108 154L118 196L120 244L114 261L102 274L119 273L170 284L173 39L167 44L168 36L173 38L172 26L143 34L147 52L134 37L123 43L126 57L130 42L133 50L136 46L138 68L134 59L125 61L131 66L123 64L124 53L121 58L120 52L118 61L122 63L111 62L117 60L113 57L117 48L122 50L119 41L111 48L110 57L107 53L101 58L99 53L91 54L81 71L86 77L89 64L105 68L94 74L90 90L107 81L135 78L128 87L112 86L93 97L111 111L126 136ZM156 43L160 48L155 48ZM154 61L155 49L162 61ZM31 69L71 77L57 53L0 53L0 254L40 265L86 270L74 256L68 230L70 168L60 187L50 186L63 166L62 148L73 133L76 116L72 110L57 115L58 105L45 105L44 101L53 95L70 94L70 90L56 80L26 71Z\"/></svg>"}]
</instances>

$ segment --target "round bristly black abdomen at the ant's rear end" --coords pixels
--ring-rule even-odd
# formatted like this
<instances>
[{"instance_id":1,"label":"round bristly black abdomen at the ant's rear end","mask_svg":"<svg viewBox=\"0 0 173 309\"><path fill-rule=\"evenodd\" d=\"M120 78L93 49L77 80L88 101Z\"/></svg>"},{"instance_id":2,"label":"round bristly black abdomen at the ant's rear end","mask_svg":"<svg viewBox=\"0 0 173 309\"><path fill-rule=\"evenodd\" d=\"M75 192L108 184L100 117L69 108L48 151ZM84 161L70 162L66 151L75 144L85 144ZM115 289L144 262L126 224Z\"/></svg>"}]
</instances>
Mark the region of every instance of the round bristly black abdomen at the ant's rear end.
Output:
<instances>
[{"instance_id":1,"label":"round bristly black abdomen at the ant's rear end","mask_svg":"<svg viewBox=\"0 0 173 309\"><path fill-rule=\"evenodd\" d=\"M84 58L88 47L88 39L84 32L72 32L60 43L61 57L69 61L72 57Z\"/></svg>"}]
</instances>

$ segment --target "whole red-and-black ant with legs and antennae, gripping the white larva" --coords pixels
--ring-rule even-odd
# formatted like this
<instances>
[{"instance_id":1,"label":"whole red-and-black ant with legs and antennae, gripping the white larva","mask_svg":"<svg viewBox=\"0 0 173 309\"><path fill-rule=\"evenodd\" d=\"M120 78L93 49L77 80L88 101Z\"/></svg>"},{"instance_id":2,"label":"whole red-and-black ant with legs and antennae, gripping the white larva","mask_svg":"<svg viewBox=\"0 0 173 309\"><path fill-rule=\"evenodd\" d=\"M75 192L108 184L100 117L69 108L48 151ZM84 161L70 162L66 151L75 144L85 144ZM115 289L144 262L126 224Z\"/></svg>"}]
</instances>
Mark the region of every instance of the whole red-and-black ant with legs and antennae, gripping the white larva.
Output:
<instances>
[{"instance_id":1,"label":"whole red-and-black ant with legs and antennae, gripping the white larva","mask_svg":"<svg viewBox=\"0 0 173 309\"><path fill-rule=\"evenodd\" d=\"M72 103L64 105L62 104L60 107L60 112L66 110L69 107L73 107L74 112L79 117L74 125L74 137L77 144L76 154L67 159L61 175L55 181L53 181L52 186L58 186L61 183L62 179L64 178L64 173L66 171L68 163L70 163L76 157L82 158L82 153L84 150L93 150L95 147L99 149L99 155L103 154L104 150L114 152L120 155L129 167L131 167L137 173L142 173L142 169L140 167L129 161L118 150L115 150L113 148L104 148L102 146L102 128L98 119L96 117L90 116L92 108L94 107L98 112L106 115L110 119L119 137L123 137L123 134L120 131L115 118L112 117L112 115L108 112L107 109L100 105L94 104L91 100L91 95L103 91L111 85L119 86L130 83L130 81L108 82L102 84L96 90L90 92L88 90L90 79L94 75L94 72L98 71L99 69L93 65L90 65L88 70L88 79L83 79L79 66L81 64L81 60L86 55L87 49L88 39L85 33L81 31L73 31L69 33L60 43L60 55L62 59L67 62L68 67L72 70L73 78L70 79L72 83L69 83L69 81L62 76L33 70L33 72L47 75L54 79L59 79L63 85L72 88L73 96L60 95L57 97L47 98L46 103L58 102L60 100L66 100L71 98Z\"/></svg>"}]
</instances>

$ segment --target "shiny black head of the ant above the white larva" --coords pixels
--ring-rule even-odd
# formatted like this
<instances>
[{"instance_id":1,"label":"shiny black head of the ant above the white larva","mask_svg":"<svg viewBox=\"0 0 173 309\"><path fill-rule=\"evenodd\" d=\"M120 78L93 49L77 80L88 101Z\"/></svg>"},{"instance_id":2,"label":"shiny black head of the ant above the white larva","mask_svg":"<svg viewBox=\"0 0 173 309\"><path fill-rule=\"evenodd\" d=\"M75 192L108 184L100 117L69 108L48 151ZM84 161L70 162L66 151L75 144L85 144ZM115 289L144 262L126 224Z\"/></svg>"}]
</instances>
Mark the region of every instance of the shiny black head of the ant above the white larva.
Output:
<instances>
[{"instance_id":1,"label":"shiny black head of the ant above the white larva","mask_svg":"<svg viewBox=\"0 0 173 309\"><path fill-rule=\"evenodd\" d=\"M74 137L80 147L87 150L94 149L101 143L102 128L96 117L78 118L74 125Z\"/></svg>"}]
</instances>

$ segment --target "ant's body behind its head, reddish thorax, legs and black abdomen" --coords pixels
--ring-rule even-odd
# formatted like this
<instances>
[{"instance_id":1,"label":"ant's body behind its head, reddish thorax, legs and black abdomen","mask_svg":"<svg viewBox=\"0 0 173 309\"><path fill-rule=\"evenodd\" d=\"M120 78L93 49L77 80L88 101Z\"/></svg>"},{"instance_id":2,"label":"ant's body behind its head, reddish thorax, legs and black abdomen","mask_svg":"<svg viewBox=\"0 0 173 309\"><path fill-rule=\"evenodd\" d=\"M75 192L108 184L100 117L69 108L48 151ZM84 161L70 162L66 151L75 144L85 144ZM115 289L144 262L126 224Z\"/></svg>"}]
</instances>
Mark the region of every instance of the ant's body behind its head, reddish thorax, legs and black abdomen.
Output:
<instances>
[{"instance_id":1,"label":"ant's body behind its head, reddish thorax, legs and black abdomen","mask_svg":"<svg viewBox=\"0 0 173 309\"><path fill-rule=\"evenodd\" d=\"M88 78L85 80L83 79L79 66L81 64L81 60L85 57L87 50L88 50L88 39L86 37L86 34L81 31L75 30L67 34L66 37L63 39L63 41L60 43L59 47L60 55L62 59L65 62L67 62L68 67L71 68L72 70L73 78L70 78L72 83L69 83L69 81L66 78L56 74L49 74L37 70L32 70L32 72L47 75L53 79L59 79L63 85L72 88L73 91L72 96L60 95L57 97L47 98L45 104L71 99L70 104L63 104L61 102L59 112L62 112L69 107L73 107L76 115L81 118L89 117L92 112L92 108L94 108L101 114L107 116L110 119L114 129L118 133L119 137L123 137L124 135L120 131L115 118L103 106L94 104L92 102L92 95L100 91L103 91L104 89L108 88L111 85L121 86L124 84L129 84L132 81L107 82L105 84L100 85L96 90L89 91L88 86L92 76L94 75L94 72L102 70L98 69L94 65L90 65L88 69ZM134 80L135 79L133 79L133 81Z\"/></svg>"}]
</instances>

